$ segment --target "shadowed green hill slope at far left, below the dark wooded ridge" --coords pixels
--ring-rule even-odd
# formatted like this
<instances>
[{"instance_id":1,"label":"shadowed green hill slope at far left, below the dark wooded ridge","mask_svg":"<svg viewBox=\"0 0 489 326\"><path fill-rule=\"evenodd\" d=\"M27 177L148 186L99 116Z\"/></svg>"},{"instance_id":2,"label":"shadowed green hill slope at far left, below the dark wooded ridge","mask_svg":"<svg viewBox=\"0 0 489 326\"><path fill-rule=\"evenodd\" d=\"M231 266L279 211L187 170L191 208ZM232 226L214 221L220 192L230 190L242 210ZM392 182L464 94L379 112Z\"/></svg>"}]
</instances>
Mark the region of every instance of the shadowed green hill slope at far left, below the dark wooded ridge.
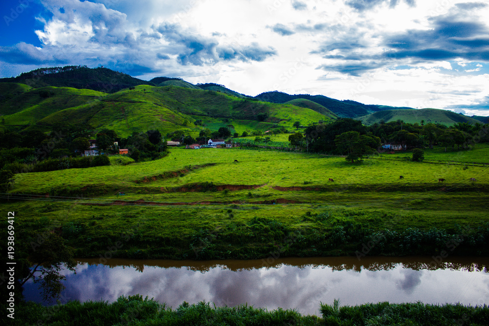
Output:
<instances>
[{"instance_id":1,"label":"shadowed green hill slope at far left, below the dark wooded ridge","mask_svg":"<svg viewBox=\"0 0 489 326\"><path fill-rule=\"evenodd\" d=\"M20 86L22 84L14 85ZM24 87L21 86L20 88ZM1 94L5 93L2 92ZM5 126L22 128L22 126L36 123L54 112L93 102L106 95L90 89L41 87L0 102L0 113L5 119Z\"/></svg>"}]
</instances>

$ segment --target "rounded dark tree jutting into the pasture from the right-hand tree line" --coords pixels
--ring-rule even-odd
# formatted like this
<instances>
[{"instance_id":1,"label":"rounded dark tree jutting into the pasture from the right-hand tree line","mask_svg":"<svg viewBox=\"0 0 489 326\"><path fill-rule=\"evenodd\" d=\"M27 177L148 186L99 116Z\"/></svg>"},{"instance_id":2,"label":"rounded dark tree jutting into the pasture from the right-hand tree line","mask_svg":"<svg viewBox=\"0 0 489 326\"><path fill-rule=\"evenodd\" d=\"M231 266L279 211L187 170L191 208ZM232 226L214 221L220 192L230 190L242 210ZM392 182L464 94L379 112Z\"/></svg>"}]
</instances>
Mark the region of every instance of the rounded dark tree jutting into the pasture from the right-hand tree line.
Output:
<instances>
[{"instance_id":1,"label":"rounded dark tree jutting into the pasture from the right-hand tree line","mask_svg":"<svg viewBox=\"0 0 489 326\"><path fill-rule=\"evenodd\" d=\"M347 131L334 139L338 152L348 153L347 161L362 161L363 158L376 151L380 139L376 136L361 135L357 131Z\"/></svg>"}]
</instances>

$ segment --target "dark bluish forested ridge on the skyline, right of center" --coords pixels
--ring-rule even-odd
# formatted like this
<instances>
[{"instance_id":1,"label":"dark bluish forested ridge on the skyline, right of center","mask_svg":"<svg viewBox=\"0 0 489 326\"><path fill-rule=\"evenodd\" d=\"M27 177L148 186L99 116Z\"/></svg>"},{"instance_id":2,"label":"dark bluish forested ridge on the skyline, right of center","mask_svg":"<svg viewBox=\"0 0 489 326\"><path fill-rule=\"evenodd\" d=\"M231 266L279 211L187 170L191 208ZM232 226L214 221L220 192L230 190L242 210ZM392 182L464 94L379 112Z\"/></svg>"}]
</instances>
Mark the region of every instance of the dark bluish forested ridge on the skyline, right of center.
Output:
<instances>
[{"instance_id":1,"label":"dark bluish forested ridge on the skyline, right of center","mask_svg":"<svg viewBox=\"0 0 489 326\"><path fill-rule=\"evenodd\" d=\"M261 93L255 96L260 101L267 101L271 103L287 103L295 99L306 99L315 102L323 107L331 110L334 114L342 118L356 118L358 116L367 115L373 112L387 110L387 109L413 109L413 108L395 108L382 105L366 105L355 101L338 101L324 95L309 95L309 94L297 94L290 95L287 93L273 91Z\"/></svg>"}]
</instances>

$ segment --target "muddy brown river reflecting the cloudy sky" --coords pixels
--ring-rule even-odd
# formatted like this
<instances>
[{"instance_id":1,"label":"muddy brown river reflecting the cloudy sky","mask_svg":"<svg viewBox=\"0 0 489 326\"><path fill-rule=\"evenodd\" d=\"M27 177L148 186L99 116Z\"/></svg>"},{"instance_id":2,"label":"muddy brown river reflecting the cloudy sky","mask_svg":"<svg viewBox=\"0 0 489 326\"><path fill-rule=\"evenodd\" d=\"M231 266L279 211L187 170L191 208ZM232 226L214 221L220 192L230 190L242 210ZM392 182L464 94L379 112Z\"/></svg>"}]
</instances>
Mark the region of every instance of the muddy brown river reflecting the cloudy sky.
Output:
<instances>
[{"instance_id":1,"label":"muddy brown river reflecting the cloudy sky","mask_svg":"<svg viewBox=\"0 0 489 326\"><path fill-rule=\"evenodd\" d=\"M66 300L115 301L141 294L177 308L186 301L248 304L319 315L320 302L355 305L388 301L489 303L489 258L285 258L252 261L79 260L66 272ZM27 300L41 302L32 283Z\"/></svg>"}]
</instances>

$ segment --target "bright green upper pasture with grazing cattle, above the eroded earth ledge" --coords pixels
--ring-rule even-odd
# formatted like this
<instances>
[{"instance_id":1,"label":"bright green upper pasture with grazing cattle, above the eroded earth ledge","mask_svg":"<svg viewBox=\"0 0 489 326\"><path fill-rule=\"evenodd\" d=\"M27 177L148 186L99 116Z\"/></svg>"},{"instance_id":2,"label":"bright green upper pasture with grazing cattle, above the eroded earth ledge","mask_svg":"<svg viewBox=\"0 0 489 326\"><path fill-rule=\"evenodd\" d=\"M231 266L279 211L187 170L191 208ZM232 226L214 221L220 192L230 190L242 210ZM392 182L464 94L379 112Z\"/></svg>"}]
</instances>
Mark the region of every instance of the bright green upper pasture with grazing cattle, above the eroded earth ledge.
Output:
<instances>
[{"instance_id":1,"label":"bright green upper pasture with grazing cattle, above the eroded earth ledge","mask_svg":"<svg viewBox=\"0 0 489 326\"><path fill-rule=\"evenodd\" d=\"M238 163L234 162L238 160ZM213 164L205 167L202 165ZM178 176L162 176L180 171ZM250 151L240 149L172 149L166 157L128 166L102 166L88 169L69 169L43 173L16 174L12 192L49 193L59 187L110 188L166 188L195 183L214 185L262 185L266 189L280 187L326 187L332 190L344 187L366 187L381 190L384 187L487 186L489 170L484 167L428 164L407 161L367 159L352 164L343 157L316 154ZM182 174L180 176L180 174ZM400 179L400 175L404 178ZM155 180L152 179L155 177ZM146 180L144 180L146 178ZM329 181L333 178L333 182ZM139 181L139 182L138 182ZM144 181L144 182L143 182Z\"/></svg>"}]
</instances>

